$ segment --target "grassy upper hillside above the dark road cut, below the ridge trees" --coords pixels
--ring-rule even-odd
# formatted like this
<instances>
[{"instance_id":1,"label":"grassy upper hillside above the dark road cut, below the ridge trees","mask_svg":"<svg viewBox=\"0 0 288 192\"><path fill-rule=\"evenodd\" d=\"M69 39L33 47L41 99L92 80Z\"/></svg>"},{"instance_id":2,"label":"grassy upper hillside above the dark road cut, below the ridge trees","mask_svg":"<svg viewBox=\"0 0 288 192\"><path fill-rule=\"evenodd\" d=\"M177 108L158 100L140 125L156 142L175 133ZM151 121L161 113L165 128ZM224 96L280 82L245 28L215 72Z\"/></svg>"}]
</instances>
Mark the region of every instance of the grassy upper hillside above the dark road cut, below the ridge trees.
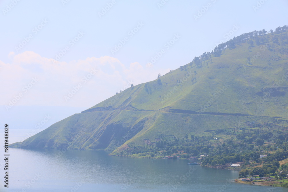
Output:
<instances>
[{"instance_id":1,"label":"grassy upper hillside above the dark road cut, below the ridge trees","mask_svg":"<svg viewBox=\"0 0 288 192\"><path fill-rule=\"evenodd\" d=\"M287 36L287 32L285 35ZM277 34L264 36L269 40L271 36L275 37ZM269 43L269 47L273 49L267 45L256 45L249 50L248 43L241 43L234 49L226 49L225 54L220 57L213 57L212 62L203 61L202 68L188 66L187 70L176 69L160 77L161 83L157 80L142 83L136 86L134 91L125 90L121 99L116 99L115 103L110 100L117 95L90 109L118 108L130 97L127 106L138 110L158 110L169 106L173 109L192 111L205 108L206 112L287 117L287 113L277 115L274 110L269 110L272 109L270 106L279 102L284 105L283 110L288 107L285 105L288 78L287 50L285 50L287 44L283 46ZM250 62L247 60L248 57L251 59ZM195 78L196 80L192 82ZM177 80L182 81L181 85ZM223 88L226 90L221 93ZM263 101L263 97L270 89L274 93ZM267 110L262 110L262 105Z\"/></svg>"}]
</instances>

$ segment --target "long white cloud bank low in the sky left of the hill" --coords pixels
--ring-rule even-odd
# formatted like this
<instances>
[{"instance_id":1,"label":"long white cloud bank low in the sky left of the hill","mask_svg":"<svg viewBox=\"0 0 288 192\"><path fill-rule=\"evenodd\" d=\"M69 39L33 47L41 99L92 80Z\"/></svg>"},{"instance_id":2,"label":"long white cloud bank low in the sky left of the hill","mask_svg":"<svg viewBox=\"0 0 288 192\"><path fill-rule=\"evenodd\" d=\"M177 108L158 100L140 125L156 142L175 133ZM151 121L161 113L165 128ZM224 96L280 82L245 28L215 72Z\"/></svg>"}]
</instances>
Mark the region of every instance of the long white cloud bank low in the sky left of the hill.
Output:
<instances>
[{"instance_id":1,"label":"long white cloud bank low in the sky left of the hill","mask_svg":"<svg viewBox=\"0 0 288 192\"><path fill-rule=\"evenodd\" d=\"M125 65L109 56L53 63L52 58L26 51L17 55L10 52L8 58L9 63L0 61L0 105L8 105L22 93L14 105L92 107L131 82L137 85L170 71L143 67L138 62ZM92 69L97 70L95 75L91 75ZM33 78L38 79L36 83ZM82 87L66 101L65 96L73 89L77 90L79 83Z\"/></svg>"}]
</instances>

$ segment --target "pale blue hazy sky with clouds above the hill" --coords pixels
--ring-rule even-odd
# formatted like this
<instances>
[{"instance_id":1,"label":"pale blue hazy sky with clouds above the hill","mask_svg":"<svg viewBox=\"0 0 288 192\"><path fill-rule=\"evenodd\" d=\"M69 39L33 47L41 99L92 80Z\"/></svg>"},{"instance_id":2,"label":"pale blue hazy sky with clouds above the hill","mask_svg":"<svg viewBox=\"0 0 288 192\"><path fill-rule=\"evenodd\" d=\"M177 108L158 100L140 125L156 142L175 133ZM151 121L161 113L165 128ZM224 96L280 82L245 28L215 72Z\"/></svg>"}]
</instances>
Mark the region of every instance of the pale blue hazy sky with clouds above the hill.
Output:
<instances>
[{"instance_id":1,"label":"pale blue hazy sky with clouds above the hill","mask_svg":"<svg viewBox=\"0 0 288 192\"><path fill-rule=\"evenodd\" d=\"M16 105L92 107L221 41L288 24L287 0L4 0L0 8L8 117Z\"/></svg>"}]
</instances>

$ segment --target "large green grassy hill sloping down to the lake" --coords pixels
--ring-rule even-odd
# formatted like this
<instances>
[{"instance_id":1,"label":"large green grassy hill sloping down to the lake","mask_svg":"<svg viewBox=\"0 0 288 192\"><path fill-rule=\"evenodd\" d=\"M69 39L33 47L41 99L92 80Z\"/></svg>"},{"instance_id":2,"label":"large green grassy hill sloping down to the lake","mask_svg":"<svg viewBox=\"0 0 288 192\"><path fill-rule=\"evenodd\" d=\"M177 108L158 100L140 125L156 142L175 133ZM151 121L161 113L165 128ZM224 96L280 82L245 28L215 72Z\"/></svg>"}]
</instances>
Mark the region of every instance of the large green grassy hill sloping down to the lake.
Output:
<instances>
[{"instance_id":1,"label":"large green grassy hill sloping down to the lake","mask_svg":"<svg viewBox=\"0 0 288 192\"><path fill-rule=\"evenodd\" d=\"M204 136L244 122L287 119L288 31L277 29L234 37L10 147L119 153L162 137Z\"/></svg>"}]
</instances>

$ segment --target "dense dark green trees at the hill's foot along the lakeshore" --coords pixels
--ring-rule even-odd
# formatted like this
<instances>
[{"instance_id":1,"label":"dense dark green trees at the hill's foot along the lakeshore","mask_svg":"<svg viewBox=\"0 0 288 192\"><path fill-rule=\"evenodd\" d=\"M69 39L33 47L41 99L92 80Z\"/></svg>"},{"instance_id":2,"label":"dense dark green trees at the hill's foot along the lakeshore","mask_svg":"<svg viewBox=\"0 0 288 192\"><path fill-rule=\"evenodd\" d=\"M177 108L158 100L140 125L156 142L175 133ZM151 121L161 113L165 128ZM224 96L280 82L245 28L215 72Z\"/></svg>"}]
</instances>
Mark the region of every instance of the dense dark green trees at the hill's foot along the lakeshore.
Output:
<instances>
[{"instance_id":1,"label":"dense dark green trees at the hill's foot along the lakeshore","mask_svg":"<svg viewBox=\"0 0 288 192\"><path fill-rule=\"evenodd\" d=\"M160 135L158 141L139 147L127 148L123 151L123 155L148 153L151 154L151 157L155 155L174 155L182 158L205 155L202 165L209 166L239 161L249 164L251 160L255 160L252 163L264 163L265 166L262 168L268 170L269 173L273 173L275 167L271 165L275 163L274 161L288 158L288 151L286 151L288 129L285 126L280 126L283 123L287 123L287 121L275 120L273 123L246 122L245 127L214 130L206 136L185 134L181 138L176 138ZM222 139L222 137L227 139ZM263 145L264 142L276 144ZM282 152L277 151L279 149L282 149ZM263 151L277 152L270 154ZM260 158L259 156L263 153L267 153L268 156ZM271 162L273 163L271 164ZM269 174L268 172L263 172L263 174Z\"/></svg>"}]
</instances>

